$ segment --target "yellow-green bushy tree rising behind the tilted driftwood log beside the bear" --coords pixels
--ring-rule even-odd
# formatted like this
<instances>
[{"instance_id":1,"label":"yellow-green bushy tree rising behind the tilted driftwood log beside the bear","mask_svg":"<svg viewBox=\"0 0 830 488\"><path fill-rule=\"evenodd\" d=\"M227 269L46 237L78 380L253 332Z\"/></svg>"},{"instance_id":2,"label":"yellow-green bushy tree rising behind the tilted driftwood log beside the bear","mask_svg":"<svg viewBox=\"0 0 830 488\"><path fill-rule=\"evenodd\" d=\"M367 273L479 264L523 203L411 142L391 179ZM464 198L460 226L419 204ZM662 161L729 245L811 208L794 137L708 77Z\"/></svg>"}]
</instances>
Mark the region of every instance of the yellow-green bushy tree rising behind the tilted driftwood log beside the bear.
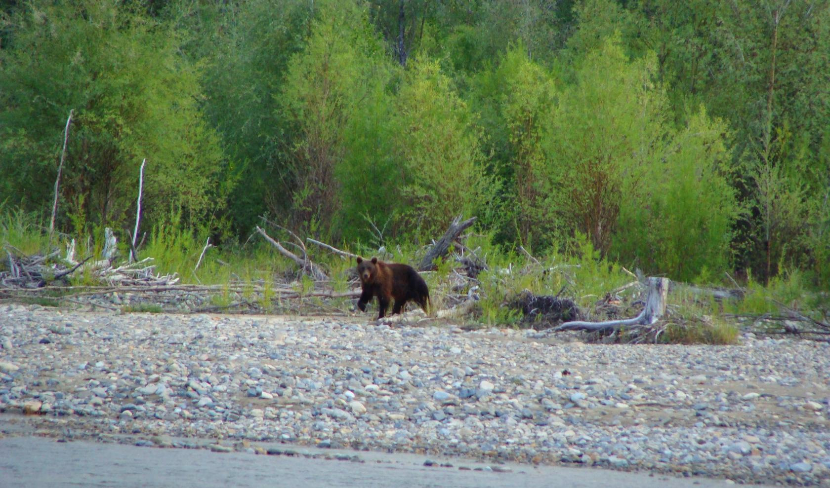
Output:
<instances>
[{"instance_id":1,"label":"yellow-green bushy tree rising behind the tilted driftwood log beside the bear","mask_svg":"<svg viewBox=\"0 0 830 488\"><path fill-rule=\"evenodd\" d=\"M414 238L441 233L453 217L476 215L491 199L496 183L484 175L472 117L436 62L410 62L393 123L403 170L400 225Z\"/></svg>"}]
</instances>

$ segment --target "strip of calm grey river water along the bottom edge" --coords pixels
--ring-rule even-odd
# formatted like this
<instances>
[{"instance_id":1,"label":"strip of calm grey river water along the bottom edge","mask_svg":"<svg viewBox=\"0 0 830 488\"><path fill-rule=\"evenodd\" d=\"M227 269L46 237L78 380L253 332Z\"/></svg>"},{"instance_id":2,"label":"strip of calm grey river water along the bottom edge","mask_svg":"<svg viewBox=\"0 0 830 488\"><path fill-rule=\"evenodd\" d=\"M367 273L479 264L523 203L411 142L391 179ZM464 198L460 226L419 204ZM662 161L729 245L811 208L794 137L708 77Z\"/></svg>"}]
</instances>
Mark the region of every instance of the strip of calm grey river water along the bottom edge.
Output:
<instances>
[{"instance_id":1,"label":"strip of calm grey river water along the bottom edge","mask_svg":"<svg viewBox=\"0 0 830 488\"><path fill-rule=\"evenodd\" d=\"M0 439L0 487L684 488L726 485L724 480L558 466L508 464L497 469L511 472L475 471L476 468L486 470L488 465L452 459L449 462L453 467L423 466L424 458L414 455L349 453L358 455L362 462L6 437ZM461 471L459 466L471 469Z\"/></svg>"}]
</instances>

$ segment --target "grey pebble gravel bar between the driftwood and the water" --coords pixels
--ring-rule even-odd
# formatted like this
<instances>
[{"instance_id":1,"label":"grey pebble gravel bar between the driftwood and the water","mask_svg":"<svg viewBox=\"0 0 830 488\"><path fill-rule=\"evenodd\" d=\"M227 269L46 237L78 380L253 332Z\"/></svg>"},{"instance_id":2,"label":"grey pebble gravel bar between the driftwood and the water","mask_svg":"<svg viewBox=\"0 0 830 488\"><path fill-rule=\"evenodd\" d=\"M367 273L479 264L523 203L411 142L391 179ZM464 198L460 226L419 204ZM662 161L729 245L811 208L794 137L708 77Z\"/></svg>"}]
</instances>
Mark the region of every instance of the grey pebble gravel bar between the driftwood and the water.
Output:
<instances>
[{"instance_id":1,"label":"grey pebble gravel bar between the driftwood and the water","mask_svg":"<svg viewBox=\"0 0 830 488\"><path fill-rule=\"evenodd\" d=\"M4 305L0 435L25 424L159 447L290 442L830 486L827 343L588 345L368 318Z\"/></svg>"}]
</instances>

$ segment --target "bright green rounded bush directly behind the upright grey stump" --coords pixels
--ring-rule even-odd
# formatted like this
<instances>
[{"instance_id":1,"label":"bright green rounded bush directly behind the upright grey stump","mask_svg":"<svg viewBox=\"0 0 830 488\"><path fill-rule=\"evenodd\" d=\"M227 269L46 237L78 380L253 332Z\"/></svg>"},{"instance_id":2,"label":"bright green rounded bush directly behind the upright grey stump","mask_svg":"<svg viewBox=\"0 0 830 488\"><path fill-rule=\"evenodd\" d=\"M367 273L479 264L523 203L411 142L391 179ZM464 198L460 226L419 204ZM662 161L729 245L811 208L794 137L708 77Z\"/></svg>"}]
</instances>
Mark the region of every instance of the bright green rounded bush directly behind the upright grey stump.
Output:
<instances>
[{"instance_id":1,"label":"bright green rounded bush directly behind the upright grey stump","mask_svg":"<svg viewBox=\"0 0 830 488\"><path fill-rule=\"evenodd\" d=\"M729 267L739 207L725 177L731 160L724 132L701 110L672 134L662 163L648 173L647 194L621 207L615 254L680 281Z\"/></svg>"}]
</instances>

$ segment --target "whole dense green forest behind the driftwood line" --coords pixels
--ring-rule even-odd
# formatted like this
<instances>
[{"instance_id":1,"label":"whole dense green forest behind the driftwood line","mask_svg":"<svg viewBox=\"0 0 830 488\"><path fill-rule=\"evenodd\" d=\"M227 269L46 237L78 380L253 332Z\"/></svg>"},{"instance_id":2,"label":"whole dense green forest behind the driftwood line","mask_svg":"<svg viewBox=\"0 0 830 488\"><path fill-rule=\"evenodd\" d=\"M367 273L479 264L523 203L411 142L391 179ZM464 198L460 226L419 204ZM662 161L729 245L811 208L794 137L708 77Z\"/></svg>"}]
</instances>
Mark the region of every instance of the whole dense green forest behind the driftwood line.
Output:
<instances>
[{"instance_id":1,"label":"whole dense green forest behind the driftwood line","mask_svg":"<svg viewBox=\"0 0 830 488\"><path fill-rule=\"evenodd\" d=\"M504 249L830 287L830 2L32 0L0 205L57 227ZM720 278L715 278L720 279Z\"/></svg>"}]
</instances>

